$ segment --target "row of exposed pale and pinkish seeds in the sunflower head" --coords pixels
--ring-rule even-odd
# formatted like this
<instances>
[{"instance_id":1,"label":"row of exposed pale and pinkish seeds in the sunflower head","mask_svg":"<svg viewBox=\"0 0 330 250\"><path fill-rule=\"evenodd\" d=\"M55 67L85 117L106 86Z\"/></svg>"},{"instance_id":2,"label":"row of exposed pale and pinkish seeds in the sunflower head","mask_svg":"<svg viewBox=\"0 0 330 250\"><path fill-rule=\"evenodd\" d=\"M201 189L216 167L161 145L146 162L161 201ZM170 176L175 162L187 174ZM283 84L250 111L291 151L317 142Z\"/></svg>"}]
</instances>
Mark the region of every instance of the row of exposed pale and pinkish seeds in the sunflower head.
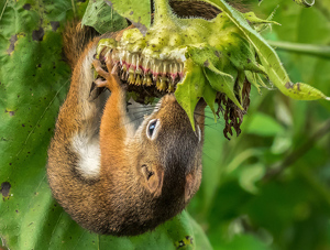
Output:
<instances>
[{"instance_id":1,"label":"row of exposed pale and pinkish seeds in the sunflower head","mask_svg":"<svg viewBox=\"0 0 330 250\"><path fill-rule=\"evenodd\" d=\"M130 85L155 86L160 91L174 93L184 77L184 63L144 57L141 53L114 50L109 55L120 66L119 77Z\"/></svg>"}]
</instances>

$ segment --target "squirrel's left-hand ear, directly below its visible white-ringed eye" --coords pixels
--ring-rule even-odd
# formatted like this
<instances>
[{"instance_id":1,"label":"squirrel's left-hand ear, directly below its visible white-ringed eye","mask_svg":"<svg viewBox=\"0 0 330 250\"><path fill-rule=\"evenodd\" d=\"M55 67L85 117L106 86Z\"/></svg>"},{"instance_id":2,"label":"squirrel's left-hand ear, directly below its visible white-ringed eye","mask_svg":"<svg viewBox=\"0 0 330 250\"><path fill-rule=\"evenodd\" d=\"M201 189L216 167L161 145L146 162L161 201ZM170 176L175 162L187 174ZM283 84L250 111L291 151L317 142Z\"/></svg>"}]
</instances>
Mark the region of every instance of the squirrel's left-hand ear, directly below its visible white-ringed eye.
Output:
<instances>
[{"instance_id":1,"label":"squirrel's left-hand ear, directly below its visible white-ringed eye","mask_svg":"<svg viewBox=\"0 0 330 250\"><path fill-rule=\"evenodd\" d=\"M152 167L147 165L142 166L142 174L147 189L155 197L161 196L163 188L164 171L161 167Z\"/></svg>"}]
</instances>

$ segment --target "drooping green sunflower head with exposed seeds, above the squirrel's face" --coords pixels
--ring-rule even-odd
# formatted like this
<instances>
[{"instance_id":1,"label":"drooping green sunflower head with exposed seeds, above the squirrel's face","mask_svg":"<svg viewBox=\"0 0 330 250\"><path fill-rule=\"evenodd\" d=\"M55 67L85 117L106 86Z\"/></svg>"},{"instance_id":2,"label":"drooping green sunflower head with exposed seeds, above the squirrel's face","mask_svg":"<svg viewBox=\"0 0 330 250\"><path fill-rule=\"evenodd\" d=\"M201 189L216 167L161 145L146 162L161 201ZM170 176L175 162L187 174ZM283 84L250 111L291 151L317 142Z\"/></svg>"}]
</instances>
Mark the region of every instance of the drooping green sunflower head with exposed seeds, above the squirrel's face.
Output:
<instances>
[{"instance_id":1,"label":"drooping green sunflower head with exposed seeds, above the squirrel's face","mask_svg":"<svg viewBox=\"0 0 330 250\"><path fill-rule=\"evenodd\" d=\"M154 23L145 34L129 29L119 42L101 40L98 55L109 52L107 56L122 67L121 78L131 85L175 91L193 127L194 110L202 97L215 113L216 100L224 105L230 113L227 127L231 120L227 132L234 127L239 133L250 85L265 87L261 76L292 98L329 99L309 85L293 84L275 51L254 29L275 22L240 13L222 0L206 2L221 10L212 20L180 19L166 0L155 0Z\"/></svg>"}]
</instances>

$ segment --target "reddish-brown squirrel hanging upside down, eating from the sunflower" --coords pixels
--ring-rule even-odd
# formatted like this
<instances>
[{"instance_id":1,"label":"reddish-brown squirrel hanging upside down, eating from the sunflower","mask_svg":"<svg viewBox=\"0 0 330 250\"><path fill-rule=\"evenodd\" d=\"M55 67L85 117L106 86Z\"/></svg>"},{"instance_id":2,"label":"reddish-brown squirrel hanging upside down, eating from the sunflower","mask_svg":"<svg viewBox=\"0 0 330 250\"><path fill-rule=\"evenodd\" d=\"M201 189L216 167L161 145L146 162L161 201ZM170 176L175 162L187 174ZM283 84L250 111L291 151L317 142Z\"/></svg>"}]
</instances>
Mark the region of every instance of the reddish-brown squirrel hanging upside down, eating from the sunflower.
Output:
<instances>
[{"instance_id":1,"label":"reddish-brown squirrel hanging upside down, eating from the sunflower","mask_svg":"<svg viewBox=\"0 0 330 250\"><path fill-rule=\"evenodd\" d=\"M196 108L196 131L173 94L134 130L127 86L116 66L107 59L106 72L94 59L98 41L87 45L74 67L48 149L48 183L55 199L84 228L135 236L180 213L199 188L205 102ZM108 100L106 93L89 98L91 64L105 78L96 80L97 87L111 91Z\"/></svg>"}]
</instances>

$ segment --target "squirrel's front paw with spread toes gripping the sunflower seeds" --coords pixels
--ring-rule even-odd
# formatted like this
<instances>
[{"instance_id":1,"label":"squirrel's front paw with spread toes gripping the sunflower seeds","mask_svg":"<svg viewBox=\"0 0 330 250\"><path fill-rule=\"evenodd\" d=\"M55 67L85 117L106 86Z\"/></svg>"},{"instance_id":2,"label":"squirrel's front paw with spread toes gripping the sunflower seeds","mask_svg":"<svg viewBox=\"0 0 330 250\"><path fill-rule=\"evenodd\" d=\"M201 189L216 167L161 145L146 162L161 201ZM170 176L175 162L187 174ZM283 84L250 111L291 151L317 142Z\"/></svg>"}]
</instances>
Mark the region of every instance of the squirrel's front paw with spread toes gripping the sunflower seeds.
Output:
<instances>
[{"instance_id":1,"label":"squirrel's front paw with spread toes gripping the sunflower seeds","mask_svg":"<svg viewBox=\"0 0 330 250\"><path fill-rule=\"evenodd\" d=\"M98 88L107 87L110 91L116 91L121 88L121 80L118 77L119 66L107 56L106 59L108 72L102 68L101 62L98 59L92 61L96 72L105 79L98 78L95 84Z\"/></svg>"}]
</instances>

